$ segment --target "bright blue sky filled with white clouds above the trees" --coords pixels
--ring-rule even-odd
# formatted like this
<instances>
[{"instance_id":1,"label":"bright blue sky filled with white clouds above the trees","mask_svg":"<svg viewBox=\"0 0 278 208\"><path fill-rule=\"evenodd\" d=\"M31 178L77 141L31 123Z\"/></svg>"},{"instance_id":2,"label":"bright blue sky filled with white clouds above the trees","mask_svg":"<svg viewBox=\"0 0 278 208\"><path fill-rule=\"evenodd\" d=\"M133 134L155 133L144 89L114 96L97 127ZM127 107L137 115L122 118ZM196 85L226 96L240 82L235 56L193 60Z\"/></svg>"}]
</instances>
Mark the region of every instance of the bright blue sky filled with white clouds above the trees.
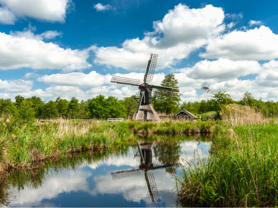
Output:
<instances>
[{"instance_id":1,"label":"bright blue sky filled with white clouds above the trees","mask_svg":"<svg viewBox=\"0 0 278 208\"><path fill-rule=\"evenodd\" d=\"M138 89L112 75L151 84L174 73L182 101L211 99L200 90L246 91L278 101L276 1L0 0L0 98L119 99Z\"/></svg>"}]
</instances>

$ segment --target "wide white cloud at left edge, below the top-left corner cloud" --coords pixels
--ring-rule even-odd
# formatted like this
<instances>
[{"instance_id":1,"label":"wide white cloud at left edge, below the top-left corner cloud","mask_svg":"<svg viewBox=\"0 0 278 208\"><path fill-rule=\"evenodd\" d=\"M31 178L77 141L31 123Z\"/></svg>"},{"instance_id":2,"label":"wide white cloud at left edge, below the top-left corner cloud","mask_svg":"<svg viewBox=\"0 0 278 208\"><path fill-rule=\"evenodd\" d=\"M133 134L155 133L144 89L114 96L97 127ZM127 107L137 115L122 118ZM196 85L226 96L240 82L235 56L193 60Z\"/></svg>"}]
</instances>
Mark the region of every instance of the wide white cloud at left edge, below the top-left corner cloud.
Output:
<instances>
[{"instance_id":1,"label":"wide white cloud at left edge, below the top-left corner cloud","mask_svg":"<svg viewBox=\"0 0 278 208\"><path fill-rule=\"evenodd\" d=\"M0 32L0 70L30 67L74 71L91 67L86 61L90 49L64 49L41 38L31 31L11 35Z\"/></svg>"}]
</instances>

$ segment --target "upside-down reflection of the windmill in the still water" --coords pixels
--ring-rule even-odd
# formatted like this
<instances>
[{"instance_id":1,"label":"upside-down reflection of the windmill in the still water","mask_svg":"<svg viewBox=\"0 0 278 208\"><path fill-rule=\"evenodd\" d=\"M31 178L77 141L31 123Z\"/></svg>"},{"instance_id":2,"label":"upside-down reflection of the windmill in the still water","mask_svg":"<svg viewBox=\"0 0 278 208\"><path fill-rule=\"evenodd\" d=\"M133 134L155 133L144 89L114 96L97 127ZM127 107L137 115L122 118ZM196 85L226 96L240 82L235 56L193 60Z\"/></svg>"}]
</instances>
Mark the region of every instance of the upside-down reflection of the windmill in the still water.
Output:
<instances>
[{"instance_id":1,"label":"upside-down reflection of the windmill in the still water","mask_svg":"<svg viewBox=\"0 0 278 208\"><path fill-rule=\"evenodd\" d=\"M154 149L154 156L152 153L152 149ZM174 160L173 158L170 159L171 158L169 157L170 153L168 153L169 155L163 155L168 159L163 160L163 162L159 161L156 153L155 142L150 143L150 142L139 141L137 147L133 149L133 151L134 151L133 159L136 159L139 162L139 168L112 171L111 172L112 179L116 180L116 179L121 179L126 177L138 176L141 175L141 173L143 172L151 201L159 202L160 199L154 181L154 174L151 173L149 170L171 167L176 163L176 159Z\"/></svg>"}]
</instances>

